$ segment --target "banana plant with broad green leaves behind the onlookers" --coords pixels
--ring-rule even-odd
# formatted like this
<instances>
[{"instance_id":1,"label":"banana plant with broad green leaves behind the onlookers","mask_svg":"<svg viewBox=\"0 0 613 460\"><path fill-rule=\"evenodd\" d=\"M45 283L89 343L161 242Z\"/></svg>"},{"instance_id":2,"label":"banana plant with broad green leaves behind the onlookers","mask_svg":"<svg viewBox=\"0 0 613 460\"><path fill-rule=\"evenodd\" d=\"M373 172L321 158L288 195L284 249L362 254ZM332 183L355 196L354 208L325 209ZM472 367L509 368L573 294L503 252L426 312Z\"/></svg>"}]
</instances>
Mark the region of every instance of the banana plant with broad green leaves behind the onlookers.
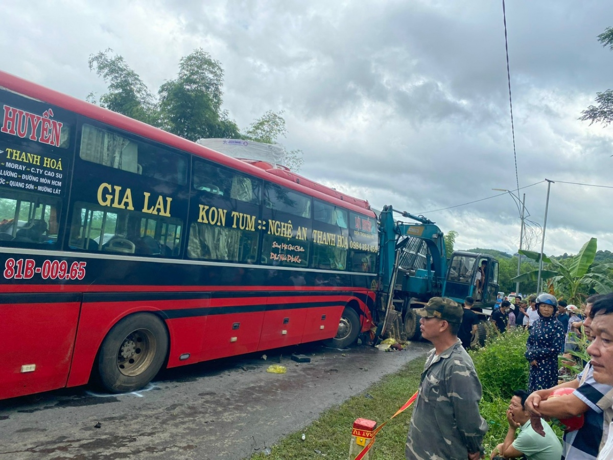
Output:
<instances>
[{"instance_id":1,"label":"banana plant with broad green leaves behind the onlookers","mask_svg":"<svg viewBox=\"0 0 613 460\"><path fill-rule=\"evenodd\" d=\"M598 294L613 292L613 279L608 273L608 270L613 268L613 264L592 266L596 256L596 242L596 238L591 238L586 242L579 253L571 258L568 266L543 254L543 263L547 263L549 266L546 270L541 270L541 278L544 280L550 278L555 288L568 293L570 304L581 305L585 297L585 294L580 292L582 286L594 289ZM535 251L521 250L519 252L536 262L541 258L541 253ZM538 280L538 269L523 273L512 279L515 282L535 280Z\"/></svg>"}]
</instances>

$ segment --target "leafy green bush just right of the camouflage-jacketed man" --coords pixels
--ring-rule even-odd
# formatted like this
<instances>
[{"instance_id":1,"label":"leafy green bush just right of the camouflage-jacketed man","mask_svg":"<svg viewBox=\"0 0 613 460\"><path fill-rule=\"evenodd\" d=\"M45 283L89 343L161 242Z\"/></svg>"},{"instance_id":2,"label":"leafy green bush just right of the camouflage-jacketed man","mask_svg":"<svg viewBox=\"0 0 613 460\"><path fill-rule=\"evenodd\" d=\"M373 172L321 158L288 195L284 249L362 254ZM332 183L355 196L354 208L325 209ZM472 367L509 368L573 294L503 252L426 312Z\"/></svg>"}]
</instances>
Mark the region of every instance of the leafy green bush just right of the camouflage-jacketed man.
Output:
<instances>
[{"instance_id":1,"label":"leafy green bush just right of the camouflage-jacketed man","mask_svg":"<svg viewBox=\"0 0 613 460\"><path fill-rule=\"evenodd\" d=\"M524 358L527 340L527 331L511 329L494 337L487 347L470 351L484 399L500 397L508 404L513 391L528 388L528 362Z\"/></svg>"}]
</instances>

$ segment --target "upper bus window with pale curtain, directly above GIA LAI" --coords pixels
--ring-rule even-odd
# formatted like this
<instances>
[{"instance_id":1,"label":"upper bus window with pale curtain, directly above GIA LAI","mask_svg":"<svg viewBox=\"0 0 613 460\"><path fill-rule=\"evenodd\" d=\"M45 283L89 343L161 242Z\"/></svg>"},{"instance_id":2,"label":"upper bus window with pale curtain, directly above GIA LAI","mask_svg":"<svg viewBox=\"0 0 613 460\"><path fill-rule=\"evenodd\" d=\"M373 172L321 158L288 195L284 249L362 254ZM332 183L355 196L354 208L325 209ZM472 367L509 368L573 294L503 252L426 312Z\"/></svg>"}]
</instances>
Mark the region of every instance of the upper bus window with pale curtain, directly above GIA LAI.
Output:
<instances>
[{"instance_id":1,"label":"upper bus window with pale curtain, directly above GIA LAI","mask_svg":"<svg viewBox=\"0 0 613 460\"><path fill-rule=\"evenodd\" d=\"M168 182L186 183L186 159L122 134L83 125L79 155L86 161Z\"/></svg>"}]
</instances>

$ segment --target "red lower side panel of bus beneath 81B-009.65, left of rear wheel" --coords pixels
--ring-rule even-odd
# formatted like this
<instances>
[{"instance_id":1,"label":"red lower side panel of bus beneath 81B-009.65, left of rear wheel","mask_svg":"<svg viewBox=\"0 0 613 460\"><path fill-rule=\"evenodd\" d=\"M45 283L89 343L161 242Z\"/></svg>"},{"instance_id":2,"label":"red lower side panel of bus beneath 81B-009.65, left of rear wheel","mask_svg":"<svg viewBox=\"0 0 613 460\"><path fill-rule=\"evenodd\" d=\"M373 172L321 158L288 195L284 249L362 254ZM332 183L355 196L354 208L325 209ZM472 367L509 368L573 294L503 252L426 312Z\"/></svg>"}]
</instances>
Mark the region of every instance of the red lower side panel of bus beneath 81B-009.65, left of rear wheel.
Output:
<instances>
[{"instance_id":1,"label":"red lower side panel of bus beneath 81B-009.65, left of rear wheel","mask_svg":"<svg viewBox=\"0 0 613 460\"><path fill-rule=\"evenodd\" d=\"M81 294L0 294L0 399L66 386Z\"/></svg>"}]
</instances>

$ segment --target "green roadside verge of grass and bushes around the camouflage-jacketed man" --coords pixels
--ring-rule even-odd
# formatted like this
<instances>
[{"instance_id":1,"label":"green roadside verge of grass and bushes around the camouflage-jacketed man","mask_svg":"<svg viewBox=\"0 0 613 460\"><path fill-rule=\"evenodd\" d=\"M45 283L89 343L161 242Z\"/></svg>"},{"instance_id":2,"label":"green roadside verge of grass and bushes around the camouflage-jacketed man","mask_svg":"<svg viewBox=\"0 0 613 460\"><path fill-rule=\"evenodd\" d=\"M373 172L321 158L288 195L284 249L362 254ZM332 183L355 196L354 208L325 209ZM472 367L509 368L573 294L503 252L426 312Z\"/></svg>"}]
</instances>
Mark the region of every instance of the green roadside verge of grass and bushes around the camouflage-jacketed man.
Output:
<instances>
[{"instance_id":1,"label":"green roadside verge of grass and bushes around the camouflage-jacketed man","mask_svg":"<svg viewBox=\"0 0 613 460\"><path fill-rule=\"evenodd\" d=\"M515 329L488 340L485 348L471 350L474 365L483 386L481 415L488 424L484 447L487 458L504 439L508 429L506 409L512 393L528 387L528 363L524 358L528 333ZM417 391L425 358L414 359L395 374L387 375L364 393L351 397L324 412L303 431L287 435L271 448L270 454L256 453L250 460L292 460L346 458L349 453L351 427L356 418L383 423ZM405 439L412 409L390 421L376 438L373 459L404 460ZM560 439L562 432L557 430ZM305 440L302 440L302 433Z\"/></svg>"}]
</instances>

